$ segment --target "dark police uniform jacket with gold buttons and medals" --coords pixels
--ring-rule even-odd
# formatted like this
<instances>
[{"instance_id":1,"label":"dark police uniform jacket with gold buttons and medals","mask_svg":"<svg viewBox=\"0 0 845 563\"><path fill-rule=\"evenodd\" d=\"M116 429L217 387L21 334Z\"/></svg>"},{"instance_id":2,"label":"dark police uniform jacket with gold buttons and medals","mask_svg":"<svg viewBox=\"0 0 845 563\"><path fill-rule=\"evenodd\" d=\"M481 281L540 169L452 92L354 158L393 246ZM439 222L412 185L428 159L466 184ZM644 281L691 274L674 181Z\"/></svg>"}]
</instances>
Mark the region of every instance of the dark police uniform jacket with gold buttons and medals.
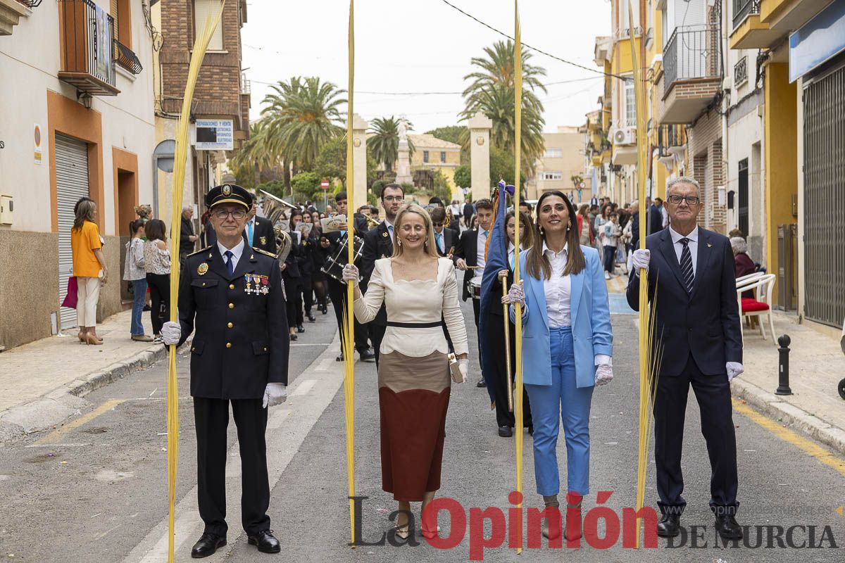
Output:
<instances>
[{"instance_id":1,"label":"dark police uniform jacket with gold buttons and medals","mask_svg":"<svg viewBox=\"0 0 845 563\"><path fill-rule=\"evenodd\" d=\"M191 344L191 395L260 399L287 385L290 351L285 296L275 256L248 245L230 276L217 245L185 260L179 324Z\"/></svg>"}]
</instances>

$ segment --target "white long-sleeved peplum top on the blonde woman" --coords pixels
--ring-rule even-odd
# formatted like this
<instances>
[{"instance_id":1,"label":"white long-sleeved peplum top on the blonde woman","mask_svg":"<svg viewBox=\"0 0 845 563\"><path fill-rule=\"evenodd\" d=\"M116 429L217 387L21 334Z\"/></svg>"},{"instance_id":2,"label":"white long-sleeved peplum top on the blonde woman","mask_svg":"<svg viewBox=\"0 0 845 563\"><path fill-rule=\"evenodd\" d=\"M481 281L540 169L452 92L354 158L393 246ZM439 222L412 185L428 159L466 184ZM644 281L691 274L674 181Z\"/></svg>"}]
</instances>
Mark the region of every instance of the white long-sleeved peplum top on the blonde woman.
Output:
<instances>
[{"instance_id":1,"label":"white long-sleeved peplum top on the blonde woman","mask_svg":"<svg viewBox=\"0 0 845 563\"><path fill-rule=\"evenodd\" d=\"M449 329L455 354L467 354L466 326L458 301L455 264L449 258L437 261L437 279L393 279L391 258L375 261L367 293L353 304L358 322L370 322L379 314L381 304L387 308L391 322L440 322ZM381 354L396 351L400 354L423 357L434 351L449 353L449 344L442 327L388 327L381 341Z\"/></svg>"}]
</instances>

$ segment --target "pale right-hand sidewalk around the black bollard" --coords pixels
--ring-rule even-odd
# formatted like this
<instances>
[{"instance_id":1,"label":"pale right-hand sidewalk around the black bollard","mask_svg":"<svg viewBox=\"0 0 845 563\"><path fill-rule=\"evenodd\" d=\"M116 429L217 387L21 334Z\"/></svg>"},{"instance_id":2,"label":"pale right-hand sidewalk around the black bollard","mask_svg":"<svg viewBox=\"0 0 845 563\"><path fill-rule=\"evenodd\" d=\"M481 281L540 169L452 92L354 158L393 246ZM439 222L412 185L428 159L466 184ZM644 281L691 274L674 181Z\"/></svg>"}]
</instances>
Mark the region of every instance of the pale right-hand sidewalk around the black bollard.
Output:
<instances>
[{"instance_id":1,"label":"pale right-hand sidewalk around the black bollard","mask_svg":"<svg viewBox=\"0 0 845 563\"><path fill-rule=\"evenodd\" d=\"M611 312L634 313L624 302L626 276L608 280ZM798 317L781 311L773 314L775 340L788 334L789 385L792 395L776 395L778 386L778 345L769 334L766 340L758 329L743 328L744 373L733 380L734 398L750 404L784 426L798 429L837 452L845 453L845 400L838 384L845 378L842 334L812 322L799 324Z\"/></svg>"}]
</instances>

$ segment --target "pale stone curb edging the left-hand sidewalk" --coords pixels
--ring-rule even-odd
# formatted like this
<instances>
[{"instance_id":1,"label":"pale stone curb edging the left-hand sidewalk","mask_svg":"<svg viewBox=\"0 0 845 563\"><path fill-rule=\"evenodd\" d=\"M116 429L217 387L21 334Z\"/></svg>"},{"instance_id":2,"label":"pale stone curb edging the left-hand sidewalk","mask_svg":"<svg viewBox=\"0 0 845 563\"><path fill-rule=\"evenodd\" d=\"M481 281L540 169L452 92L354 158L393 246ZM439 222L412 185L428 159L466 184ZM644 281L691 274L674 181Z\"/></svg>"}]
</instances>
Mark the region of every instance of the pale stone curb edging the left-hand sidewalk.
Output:
<instances>
[{"instance_id":1,"label":"pale stone curb edging the left-hand sidewalk","mask_svg":"<svg viewBox=\"0 0 845 563\"><path fill-rule=\"evenodd\" d=\"M191 340L193 340L193 335L186 343L190 343ZM183 349L189 348L183 347ZM0 445L63 423L68 417L79 414L80 409L85 407L87 403L83 399L85 395L123 379L134 371L147 368L166 356L167 349L161 344L154 344L126 360L114 362L102 370L92 371L72 382L56 387L29 403L19 404L0 412Z\"/></svg>"}]
</instances>

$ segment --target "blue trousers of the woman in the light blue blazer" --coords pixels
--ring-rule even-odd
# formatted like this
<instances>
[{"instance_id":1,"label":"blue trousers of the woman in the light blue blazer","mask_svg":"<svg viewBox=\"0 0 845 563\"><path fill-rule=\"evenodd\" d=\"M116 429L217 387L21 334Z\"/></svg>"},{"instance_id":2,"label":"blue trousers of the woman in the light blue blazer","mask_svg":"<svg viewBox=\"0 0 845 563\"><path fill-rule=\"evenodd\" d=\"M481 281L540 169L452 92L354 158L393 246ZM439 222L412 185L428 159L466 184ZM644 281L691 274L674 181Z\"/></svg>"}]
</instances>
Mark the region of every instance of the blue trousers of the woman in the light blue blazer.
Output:
<instances>
[{"instance_id":1,"label":"blue trousers of the woman in the light blue blazer","mask_svg":"<svg viewBox=\"0 0 845 563\"><path fill-rule=\"evenodd\" d=\"M590 493L590 405L592 387L576 387L572 329L552 328L552 385L526 384L534 420L534 478L537 493L560 492L558 433L564 423L567 492Z\"/></svg>"}]
</instances>

